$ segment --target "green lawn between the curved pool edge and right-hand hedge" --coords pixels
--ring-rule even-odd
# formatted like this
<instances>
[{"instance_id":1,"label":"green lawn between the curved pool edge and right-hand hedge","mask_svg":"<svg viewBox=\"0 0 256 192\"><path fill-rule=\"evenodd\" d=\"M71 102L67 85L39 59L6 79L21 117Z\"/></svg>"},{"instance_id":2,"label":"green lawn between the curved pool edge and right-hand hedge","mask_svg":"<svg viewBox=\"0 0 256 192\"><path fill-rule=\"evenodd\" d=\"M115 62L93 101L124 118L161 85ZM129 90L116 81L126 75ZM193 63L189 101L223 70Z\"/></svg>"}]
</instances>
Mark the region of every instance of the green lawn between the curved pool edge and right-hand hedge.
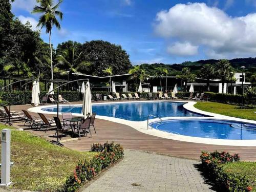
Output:
<instances>
[{"instance_id":1,"label":"green lawn between the curved pool edge and right-hand hedge","mask_svg":"<svg viewBox=\"0 0 256 192\"><path fill-rule=\"evenodd\" d=\"M230 117L238 117L243 119L256 120L256 109L240 109L237 105L223 104L217 102L198 102L195 108L206 112L227 115Z\"/></svg>"}]
</instances>

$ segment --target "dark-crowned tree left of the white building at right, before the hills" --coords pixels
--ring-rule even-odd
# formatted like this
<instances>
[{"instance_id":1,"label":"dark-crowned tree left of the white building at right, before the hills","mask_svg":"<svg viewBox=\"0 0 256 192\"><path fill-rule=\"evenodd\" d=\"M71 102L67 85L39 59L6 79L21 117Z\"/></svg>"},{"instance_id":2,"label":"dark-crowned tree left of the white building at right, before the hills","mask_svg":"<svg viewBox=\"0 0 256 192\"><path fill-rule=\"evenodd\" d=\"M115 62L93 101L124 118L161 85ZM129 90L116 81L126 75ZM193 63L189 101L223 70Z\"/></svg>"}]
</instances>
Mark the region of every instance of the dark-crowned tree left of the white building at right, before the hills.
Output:
<instances>
[{"instance_id":1,"label":"dark-crowned tree left of the white building at right, before the hills","mask_svg":"<svg viewBox=\"0 0 256 192\"><path fill-rule=\"evenodd\" d=\"M216 63L215 70L218 78L221 79L222 93L224 93L224 83L231 78L231 72L233 71L233 69L228 60L222 59Z\"/></svg>"}]
</instances>

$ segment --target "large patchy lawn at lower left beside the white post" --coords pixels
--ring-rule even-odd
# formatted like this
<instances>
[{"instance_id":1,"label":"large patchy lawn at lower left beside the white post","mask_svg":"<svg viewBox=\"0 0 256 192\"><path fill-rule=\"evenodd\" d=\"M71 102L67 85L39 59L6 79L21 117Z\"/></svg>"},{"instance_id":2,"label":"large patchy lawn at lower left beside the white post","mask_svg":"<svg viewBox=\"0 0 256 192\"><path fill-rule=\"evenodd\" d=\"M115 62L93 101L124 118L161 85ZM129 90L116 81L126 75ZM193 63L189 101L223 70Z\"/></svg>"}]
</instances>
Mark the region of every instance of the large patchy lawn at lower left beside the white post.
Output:
<instances>
[{"instance_id":1,"label":"large patchy lawn at lower left beside the white post","mask_svg":"<svg viewBox=\"0 0 256 192\"><path fill-rule=\"evenodd\" d=\"M0 125L2 129L14 129ZM72 174L79 159L90 159L96 153L77 152L49 143L28 132L11 133L11 187L35 191L55 191ZM1 158L1 157L0 157Z\"/></svg>"}]
</instances>

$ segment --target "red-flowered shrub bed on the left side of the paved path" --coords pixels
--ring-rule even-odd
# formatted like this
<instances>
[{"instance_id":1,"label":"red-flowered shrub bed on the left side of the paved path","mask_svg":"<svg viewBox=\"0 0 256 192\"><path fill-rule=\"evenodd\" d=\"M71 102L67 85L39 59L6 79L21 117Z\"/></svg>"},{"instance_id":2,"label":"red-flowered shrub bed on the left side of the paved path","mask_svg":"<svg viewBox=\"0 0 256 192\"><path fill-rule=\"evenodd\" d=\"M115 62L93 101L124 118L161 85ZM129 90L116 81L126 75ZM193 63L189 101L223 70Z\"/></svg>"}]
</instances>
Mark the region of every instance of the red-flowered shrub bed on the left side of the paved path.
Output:
<instances>
[{"instance_id":1,"label":"red-flowered shrub bed on the left side of the paved path","mask_svg":"<svg viewBox=\"0 0 256 192\"><path fill-rule=\"evenodd\" d=\"M79 161L75 170L66 181L64 191L75 191L82 184L97 176L102 169L118 162L123 157L123 147L120 144L104 143L93 144L93 152L100 152L90 161Z\"/></svg>"}]
</instances>

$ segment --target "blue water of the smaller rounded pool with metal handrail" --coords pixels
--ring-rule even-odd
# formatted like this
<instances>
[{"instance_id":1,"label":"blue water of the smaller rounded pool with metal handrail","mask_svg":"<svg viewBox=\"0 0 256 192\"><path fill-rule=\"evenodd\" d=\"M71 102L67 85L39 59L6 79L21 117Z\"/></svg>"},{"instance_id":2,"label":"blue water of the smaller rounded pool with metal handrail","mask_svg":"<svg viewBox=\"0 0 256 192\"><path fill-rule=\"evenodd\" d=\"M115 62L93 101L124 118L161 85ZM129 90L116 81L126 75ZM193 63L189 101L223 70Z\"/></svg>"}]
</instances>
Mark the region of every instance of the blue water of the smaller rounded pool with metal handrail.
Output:
<instances>
[{"instance_id":1,"label":"blue water of the smaller rounded pool with metal handrail","mask_svg":"<svg viewBox=\"0 0 256 192\"><path fill-rule=\"evenodd\" d=\"M157 130L191 137L231 140L256 139L256 125L212 119L175 119L151 123Z\"/></svg>"}]
</instances>

